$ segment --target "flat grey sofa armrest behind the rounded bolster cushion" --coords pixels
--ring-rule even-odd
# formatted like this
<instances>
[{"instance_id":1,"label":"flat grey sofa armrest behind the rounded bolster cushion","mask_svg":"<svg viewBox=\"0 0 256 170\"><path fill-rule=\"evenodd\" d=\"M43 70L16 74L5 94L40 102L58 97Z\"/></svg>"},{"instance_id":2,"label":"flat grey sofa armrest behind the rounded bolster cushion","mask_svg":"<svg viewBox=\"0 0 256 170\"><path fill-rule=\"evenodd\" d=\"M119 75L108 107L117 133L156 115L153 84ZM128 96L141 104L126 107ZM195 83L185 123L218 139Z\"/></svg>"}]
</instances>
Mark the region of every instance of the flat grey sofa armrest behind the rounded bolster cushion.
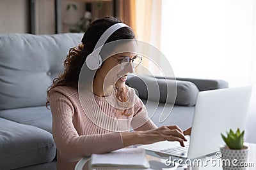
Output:
<instances>
[{"instance_id":1,"label":"flat grey sofa armrest behind the rounded bolster cushion","mask_svg":"<svg viewBox=\"0 0 256 170\"><path fill-rule=\"evenodd\" d=\"M156 78L163 79L163 76L156 76ZM166 77L167 79L173 79L170 77ZM176 78L176 80L181 81L190 81L196 85L198 90L215 90L215 89L225 89L228 88L228 82L225 80L218 79L201 79L201 78Z\"/></svg>"}]
</instances>

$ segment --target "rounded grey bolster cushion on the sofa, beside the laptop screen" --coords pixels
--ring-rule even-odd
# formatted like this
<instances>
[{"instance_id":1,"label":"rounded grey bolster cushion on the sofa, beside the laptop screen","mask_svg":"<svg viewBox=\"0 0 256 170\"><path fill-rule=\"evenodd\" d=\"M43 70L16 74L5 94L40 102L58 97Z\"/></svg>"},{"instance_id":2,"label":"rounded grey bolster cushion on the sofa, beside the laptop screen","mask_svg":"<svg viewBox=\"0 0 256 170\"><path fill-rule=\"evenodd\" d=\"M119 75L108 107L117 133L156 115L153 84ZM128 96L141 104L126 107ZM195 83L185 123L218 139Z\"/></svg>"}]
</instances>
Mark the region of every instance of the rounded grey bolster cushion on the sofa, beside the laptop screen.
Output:
<instances>
[{"instance_id":1,"label":"rounded grey bolster cushion on the sofa, beside the laptop screen","mask_svg":"<svg viewBox=\"0 0 256 170\"><path fill-rule=\"evenodd\" d=\"M142 99L180 106L195 106L199 92L190 81L158 79L147 75L129 75L126 83L138 90Z\"/></svg>"}]
</instances>

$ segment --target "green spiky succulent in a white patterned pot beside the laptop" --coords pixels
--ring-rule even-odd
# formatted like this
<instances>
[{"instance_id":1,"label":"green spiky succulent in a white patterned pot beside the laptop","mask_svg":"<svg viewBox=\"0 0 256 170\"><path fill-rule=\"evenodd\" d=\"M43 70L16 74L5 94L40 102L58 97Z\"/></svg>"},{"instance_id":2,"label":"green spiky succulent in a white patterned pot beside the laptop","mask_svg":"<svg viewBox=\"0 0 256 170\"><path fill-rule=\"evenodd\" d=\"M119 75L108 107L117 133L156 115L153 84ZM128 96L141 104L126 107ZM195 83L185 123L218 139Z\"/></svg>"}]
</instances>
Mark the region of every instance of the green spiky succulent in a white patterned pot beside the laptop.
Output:
<instances>
[{"instance_id":1,"label":"green spiky succulent in a white patterned pot beside the laptop","mask_svg":"<svg viewBox=\"0 0 256 170\"><path fill-rule=\"evenodd\" d=\"M225 141L226 146L221 146L220 151L222 158L228 160L223 162L223 170L234 169L246 169L246 167L240 166L241 162L247 162L248 160L248 146L244 146L244 131L240 132L238 128L236 133L230 129L227 132L227 137L221 134L222 139Z\"/></svg>"}]
</instances>

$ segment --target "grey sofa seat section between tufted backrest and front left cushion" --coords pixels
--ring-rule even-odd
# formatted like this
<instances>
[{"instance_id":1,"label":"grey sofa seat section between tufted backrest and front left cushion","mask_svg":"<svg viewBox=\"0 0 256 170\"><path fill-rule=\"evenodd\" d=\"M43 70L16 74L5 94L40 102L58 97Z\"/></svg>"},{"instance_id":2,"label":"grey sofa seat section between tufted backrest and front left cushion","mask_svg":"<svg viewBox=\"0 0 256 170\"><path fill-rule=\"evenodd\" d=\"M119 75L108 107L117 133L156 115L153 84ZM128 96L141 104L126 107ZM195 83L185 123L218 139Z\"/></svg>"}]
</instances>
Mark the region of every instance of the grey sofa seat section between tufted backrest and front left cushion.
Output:
<instances>
[{"instance_id":1,"label":"grey sofa seat section between tufted backrest and front left cushion","mask_svg":"<svg viewBox=\"0 0 256 170\"><path fill-rule=\"evenodd\" d=\"M0 117L52 133L51 110L47 110L45 106L0 110Z\"/></svg>"}]
</instances>

